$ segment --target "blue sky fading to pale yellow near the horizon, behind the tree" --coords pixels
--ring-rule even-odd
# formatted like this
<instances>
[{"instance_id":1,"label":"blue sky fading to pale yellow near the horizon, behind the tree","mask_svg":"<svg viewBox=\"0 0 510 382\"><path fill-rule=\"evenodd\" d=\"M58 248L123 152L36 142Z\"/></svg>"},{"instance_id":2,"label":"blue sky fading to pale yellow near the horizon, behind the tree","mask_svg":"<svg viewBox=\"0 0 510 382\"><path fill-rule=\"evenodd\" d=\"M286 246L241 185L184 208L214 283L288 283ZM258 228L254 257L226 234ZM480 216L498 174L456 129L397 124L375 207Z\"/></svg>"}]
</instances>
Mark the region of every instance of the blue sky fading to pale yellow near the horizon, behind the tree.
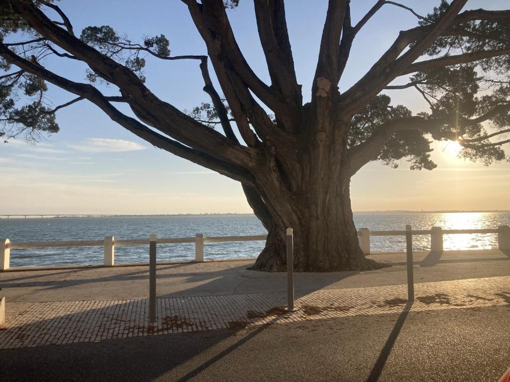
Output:
<instances>
[{"instance_id":1,"label":"blue sky fading to pale yellow near the horizon, behind the tree","mask_svg":"<svg viewBox=\"0 0 510 382\"><path fill-rule=\"evenodd\" d=\"M172 56L206 53L180 0L149 3L151 6L141 6L137 0L62 0L59 6L75 31L88 25L110 25L134 41L163 33L170 40ZM242 0L237 9L229 11L229 17L248 63L268 82L251 3ZM353 21L359 20L373 3L374 0L351 2ZM439 1L401 3L426 14ZM286 5L304 101L310 99L326 7L326 1L318 0L292 0ZM466 9L477 8L507 9L508 2L468 1ZM416 18L411 13L386 5L356 38L340 90L365 74L399 30L414 26ZM60 75L84 81L85 68L70 61L48 59L44 65ZM209 101L202 91L196 62L147 57L145 74L149 89L181 110ZM399 78L395 83L404 81ZM118 95L114 87L102 90ZM414 113L427 110L413 90L386 94L392 97L392 104L404 104ZM49 86L48 101L54 105L72 98L73 95ZM23 140L0 143L0 214L251 213L238 182L152 147L88 101L60 110L57 122L60 132L34 146ZM375 162L366 165L351 180L353 210L510 209L510 163L484 167L456 158L454 144L436 142L432 147L432 159L438 164L432 171L411 171L405 159L396 170Z\"/></svg>"}]
</instances>

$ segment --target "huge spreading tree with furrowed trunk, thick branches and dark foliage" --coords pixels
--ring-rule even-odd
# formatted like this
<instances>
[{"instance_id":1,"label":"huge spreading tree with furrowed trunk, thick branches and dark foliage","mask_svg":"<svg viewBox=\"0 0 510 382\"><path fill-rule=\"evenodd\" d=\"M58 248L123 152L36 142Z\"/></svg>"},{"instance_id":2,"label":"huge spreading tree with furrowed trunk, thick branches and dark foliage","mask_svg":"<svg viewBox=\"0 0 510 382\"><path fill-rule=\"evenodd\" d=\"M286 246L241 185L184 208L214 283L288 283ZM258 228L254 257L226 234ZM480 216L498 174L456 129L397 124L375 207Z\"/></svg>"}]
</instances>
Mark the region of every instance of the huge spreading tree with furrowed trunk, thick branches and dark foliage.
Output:
<instances>
[{"instance_id":1,"label":"huge spreading tree with furrowed trunk, thick branches and dark foliage","mask_svg":"<svg viewBox=\"0 0 510 382\"><path fill-rule=\"evenodd\" d=\"M395 166L405 157L412 169L431 170L436 167L431 140L456 141L463 146L461 155L486 164L505 159L510 10L463 10L467 0L443 0L419 15L378 0L355 21L349 0L329 0L313 85L305 90L311 100L303 104L284 0L254 0L270 85L253 72L236 42L227 13L239 0L181 1L206 43L207 56L172 57L164 35L136 42L105 25L89 26L78 35L50 0L0 0L5 138L56 132L57 110L81 100L94 103L152 145L241 182L268 230L253 269L268 271L285 265L287 227L295 232L296 270L379 266L360 250L349 196L350 178L369 161ZM370 70L340 93L354 39L382 7L402 8L417 18L417 26L401 31L381 57L374 57ZM197 60L210 103L185 113L154 95L144 84L147 55ZM88 81L48 69L47 56L85 63ZM211 66L220 90L213 85ZM392 85L400 76L409 82ZM120 95L105 94L101 81L111 85L104 89L118 89ZM48 106L46 83L76 97ZM428 102L430 112L413 115L381 93L408 88ZM136 118L122 113L119 102Z\"/></svg>"}]
</instances>

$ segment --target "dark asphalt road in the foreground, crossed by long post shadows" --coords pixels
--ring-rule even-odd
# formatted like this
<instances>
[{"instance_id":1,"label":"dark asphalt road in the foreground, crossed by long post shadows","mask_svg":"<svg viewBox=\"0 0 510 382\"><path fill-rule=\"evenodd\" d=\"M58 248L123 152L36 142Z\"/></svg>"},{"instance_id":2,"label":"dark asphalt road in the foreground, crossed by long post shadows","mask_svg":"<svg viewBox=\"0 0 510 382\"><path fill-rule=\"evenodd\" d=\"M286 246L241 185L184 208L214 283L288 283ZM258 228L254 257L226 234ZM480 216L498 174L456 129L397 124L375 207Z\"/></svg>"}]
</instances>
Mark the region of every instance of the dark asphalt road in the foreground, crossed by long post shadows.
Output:
<instances>
[{"instance_id":1,"label":"dark asphalt road in the foreground, crossed by long post shadows","mask_svg":"<svg viewBox=\"0 0 510 382\"><path fill-rule=\"evenodd\" d=\"M2 381L494 381L510 305L0 351Z\"/></svg>"}]
</instances>

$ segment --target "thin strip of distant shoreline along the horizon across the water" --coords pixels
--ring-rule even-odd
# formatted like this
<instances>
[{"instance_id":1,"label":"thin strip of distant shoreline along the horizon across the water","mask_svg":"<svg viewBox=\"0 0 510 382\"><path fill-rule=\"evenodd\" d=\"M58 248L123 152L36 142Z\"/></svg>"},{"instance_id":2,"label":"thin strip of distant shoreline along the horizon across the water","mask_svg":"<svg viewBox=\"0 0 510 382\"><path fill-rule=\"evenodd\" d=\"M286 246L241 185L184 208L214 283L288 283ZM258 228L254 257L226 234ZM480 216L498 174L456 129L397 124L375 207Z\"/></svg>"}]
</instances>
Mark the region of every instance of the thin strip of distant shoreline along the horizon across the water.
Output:
<instances>
[{"instance_id":1,"label":"thin strip of distant shoreline along the horizon across the water","mask_svg":"<svg viewBox=\"0 0 510 382\"><path fill-rule=\"evenodd\" d=\"M417 214L417 213L480 213L480 212L510 212L510 210L375 210L375 211L354 211L355 214ZM44 216L46 219L71 219L73 217L200 217L200 216L246 216L253 215L253 213L162 213L162 214L0 214L0 219L23 219L27 216L30 219L41 219Z\"/></svg>"}]
</instances>

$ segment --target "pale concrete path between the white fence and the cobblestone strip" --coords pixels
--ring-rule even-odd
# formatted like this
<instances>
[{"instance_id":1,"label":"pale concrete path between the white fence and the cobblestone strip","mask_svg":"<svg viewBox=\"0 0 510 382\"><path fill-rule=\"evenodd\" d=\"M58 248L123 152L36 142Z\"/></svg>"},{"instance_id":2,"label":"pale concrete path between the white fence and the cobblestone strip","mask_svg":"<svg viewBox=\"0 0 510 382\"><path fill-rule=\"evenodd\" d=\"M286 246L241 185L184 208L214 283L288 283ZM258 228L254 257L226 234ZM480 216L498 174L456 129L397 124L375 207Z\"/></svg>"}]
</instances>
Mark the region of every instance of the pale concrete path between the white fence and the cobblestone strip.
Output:
<instances>
[{"instance_id":1,"label":"pale concrete path between the white fence and the cobblestone strip","mask_svg":"<svg viewBox=\"0 0 510 382\"><path fill-rule=\"evenodd\" d=\"M405 254L370 258L391 267L367 272L295 274L296 291L406 283ZM447 251L414 255L415 282L478 279L510 275L510 252ZM247 270L252 260L158 266L158 296L209 296L285 292L286 273ZM0 293L10 303L127 300L148 296L148 266L0 272Z\"/></svg>"}]
</instances>

